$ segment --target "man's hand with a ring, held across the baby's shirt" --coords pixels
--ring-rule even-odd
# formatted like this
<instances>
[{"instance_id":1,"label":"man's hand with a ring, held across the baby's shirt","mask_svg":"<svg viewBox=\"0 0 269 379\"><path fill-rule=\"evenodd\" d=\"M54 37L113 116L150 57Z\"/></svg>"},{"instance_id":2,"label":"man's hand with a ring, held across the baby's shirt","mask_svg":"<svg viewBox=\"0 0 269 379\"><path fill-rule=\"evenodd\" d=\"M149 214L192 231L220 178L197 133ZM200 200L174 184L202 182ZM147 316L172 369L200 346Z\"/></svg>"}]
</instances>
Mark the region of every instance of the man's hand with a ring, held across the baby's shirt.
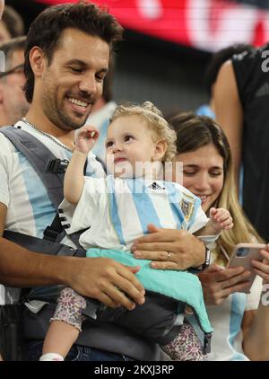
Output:
<instances>
[{"instance_id":1,"label":"man's hand with a ring, held across the baby's shirt","mask_svg":"<svg viewBox=\"0 0 269 379\"><path fill-rule=\"evenodd\" d=\"M204 263L204 242L183 230L148 225L150 234L134 241L131 250L140 260L152 260L152 269L189 269Z\"/></svg>"}]
</instances>

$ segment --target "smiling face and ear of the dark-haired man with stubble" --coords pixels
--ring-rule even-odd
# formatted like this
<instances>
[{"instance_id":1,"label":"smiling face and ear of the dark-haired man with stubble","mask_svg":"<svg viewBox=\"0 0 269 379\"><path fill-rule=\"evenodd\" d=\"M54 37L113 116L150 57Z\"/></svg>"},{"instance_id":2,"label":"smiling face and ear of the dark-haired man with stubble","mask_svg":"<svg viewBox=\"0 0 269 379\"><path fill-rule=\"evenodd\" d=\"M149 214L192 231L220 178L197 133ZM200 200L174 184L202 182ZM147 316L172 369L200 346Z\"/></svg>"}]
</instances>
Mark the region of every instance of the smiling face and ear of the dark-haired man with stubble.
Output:
<instances>
[{"instance_id":1,"label":"smiling face and ear of the dark-haired man with stubble","mask_svg":"<svg viewBox=\"0 0 269 379\"><path fill-rule=\"evenodd\" d=\"M82 127L100 98L108 71L109 47L104 40L73 28L62 32L59 45L45 71L43 65L37 66L35 96L50 124L74 131ZM31 58L37 65L43 61L40 48L33 48ZM28 118L35 118L32 111Z\"/></svg>"}]
</instances>

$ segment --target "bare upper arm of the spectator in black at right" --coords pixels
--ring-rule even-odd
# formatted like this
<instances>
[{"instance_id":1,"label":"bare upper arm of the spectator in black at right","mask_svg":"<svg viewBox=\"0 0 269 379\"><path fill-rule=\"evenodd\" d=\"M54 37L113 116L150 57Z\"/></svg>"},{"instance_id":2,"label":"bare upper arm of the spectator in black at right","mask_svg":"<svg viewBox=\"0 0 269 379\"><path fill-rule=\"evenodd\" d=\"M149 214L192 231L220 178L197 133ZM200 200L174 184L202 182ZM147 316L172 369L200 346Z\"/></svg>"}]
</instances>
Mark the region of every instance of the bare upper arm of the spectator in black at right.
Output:
<instances>
[{"instance_id":1,"label":"bare upper arm of the spectator in black at right","mask_svg":"<svg viewBox=\"0 0 269 379\"><path fill-rule=\"evenodd\" d=\"M230 143L235 178L239 183L242 153L243 110L231 61L224 63L213 87L213 104L216 120Z\"/></svg>"}]
</instances>

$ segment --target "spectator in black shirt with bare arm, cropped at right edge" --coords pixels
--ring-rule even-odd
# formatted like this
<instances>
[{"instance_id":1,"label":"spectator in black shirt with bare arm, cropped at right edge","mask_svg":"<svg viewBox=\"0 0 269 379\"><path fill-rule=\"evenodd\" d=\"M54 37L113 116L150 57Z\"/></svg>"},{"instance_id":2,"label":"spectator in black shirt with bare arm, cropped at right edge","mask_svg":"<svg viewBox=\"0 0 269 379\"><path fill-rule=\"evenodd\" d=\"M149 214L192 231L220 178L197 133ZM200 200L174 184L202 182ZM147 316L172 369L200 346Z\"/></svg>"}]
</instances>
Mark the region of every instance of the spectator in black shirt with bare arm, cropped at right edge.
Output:
<instances>
[{"instance_id":1,"label":"spectator in black shirt with bare arm, cropped at right edge","mask_svg":"<svg viewBox=\"0 0 269 379\"><path fill-rule=\"evenodd\" d=\"M215 88L216 118L235 163L244 165L243 207L257 232L269 242L269 44L234 56L221 66Z\"/></svg>"}]
</instances>

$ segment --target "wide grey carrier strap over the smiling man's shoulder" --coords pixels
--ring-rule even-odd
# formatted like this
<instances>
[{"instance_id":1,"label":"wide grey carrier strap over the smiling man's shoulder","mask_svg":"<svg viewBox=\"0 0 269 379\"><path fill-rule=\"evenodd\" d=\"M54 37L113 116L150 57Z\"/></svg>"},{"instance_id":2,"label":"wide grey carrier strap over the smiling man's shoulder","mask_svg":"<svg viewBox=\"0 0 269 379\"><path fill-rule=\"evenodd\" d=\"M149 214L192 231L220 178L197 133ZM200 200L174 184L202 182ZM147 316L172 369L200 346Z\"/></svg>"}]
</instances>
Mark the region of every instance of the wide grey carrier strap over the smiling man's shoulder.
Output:
<instances>
[{"instance_id":1,"label":"wide grey carrier strap over the smiling man's shoulder","mask_svg":"<svg viewBox=\"0 0 269 379\"><path fill-rule=\"evenodd\" d=\"M46 171L49 161L55 160L56 156L38 138L20 128L4 127L0 128L0 132L25 156L39 174L40 180L48 190L50 201L57 209L64 198L64 172Z\"/></svg>"}]
</instances>

